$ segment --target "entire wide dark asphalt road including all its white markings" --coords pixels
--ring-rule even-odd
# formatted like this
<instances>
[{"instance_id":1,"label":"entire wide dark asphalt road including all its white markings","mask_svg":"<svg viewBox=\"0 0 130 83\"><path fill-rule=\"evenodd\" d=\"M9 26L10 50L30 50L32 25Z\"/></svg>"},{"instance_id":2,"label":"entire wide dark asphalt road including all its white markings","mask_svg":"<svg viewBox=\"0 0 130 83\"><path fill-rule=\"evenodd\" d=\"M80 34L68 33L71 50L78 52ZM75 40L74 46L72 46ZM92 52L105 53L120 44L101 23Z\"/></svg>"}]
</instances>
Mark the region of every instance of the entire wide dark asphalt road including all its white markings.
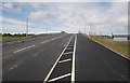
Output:
<instances>
[{"instance_id":1,"label":"entire wide dark asphalt road including all its white markings","mask_svg":"<svg viewBox=\"0 0 130 83\"><path fill-rule=\"evenodd\" d=\"M2 46L4 82L130 81L130 60L83 37L61 33Z\"/></svg>"}]
</instances>

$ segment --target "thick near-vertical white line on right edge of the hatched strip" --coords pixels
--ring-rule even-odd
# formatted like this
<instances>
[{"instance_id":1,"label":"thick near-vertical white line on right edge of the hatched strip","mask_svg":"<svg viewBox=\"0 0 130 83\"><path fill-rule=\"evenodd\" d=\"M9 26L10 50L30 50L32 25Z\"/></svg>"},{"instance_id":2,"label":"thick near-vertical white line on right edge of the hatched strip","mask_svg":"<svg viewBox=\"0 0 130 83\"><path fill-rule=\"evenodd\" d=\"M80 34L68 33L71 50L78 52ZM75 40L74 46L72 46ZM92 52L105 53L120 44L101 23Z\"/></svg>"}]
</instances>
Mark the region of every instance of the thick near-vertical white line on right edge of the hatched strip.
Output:
<instances>
[{"instance_id":1,"label":"thick near-vertical white line on right edge of the hatched strip","mask_svg":"<svg viewBox=\"0 0 130 83\"><path fill-rule=\"evenodd\" d=\"M76 53L76 42L77 42L77 34L76 34L76 38L75 38L74 53L73 53L72 83L75 83L75 53Z\"/></svg>"}]
</instances>

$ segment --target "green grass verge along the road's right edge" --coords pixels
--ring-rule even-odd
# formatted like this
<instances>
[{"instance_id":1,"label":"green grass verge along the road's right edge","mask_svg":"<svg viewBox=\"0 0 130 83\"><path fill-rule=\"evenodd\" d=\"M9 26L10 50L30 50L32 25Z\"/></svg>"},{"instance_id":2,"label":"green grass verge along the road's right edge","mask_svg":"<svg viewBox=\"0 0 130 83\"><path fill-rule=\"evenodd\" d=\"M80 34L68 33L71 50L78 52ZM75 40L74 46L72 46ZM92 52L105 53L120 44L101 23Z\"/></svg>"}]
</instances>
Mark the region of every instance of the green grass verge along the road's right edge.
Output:
<instances>
[{"instance_id":1,"label":"green grass verge along the road's right edge","mask_svg":"<svg viewBox=\"0 0 130 83\"><path fill-rule=\"evenodd\" d=\"M86 37L88 37L87 34L83 34ZM94 40L95 42L100 42L104 45L106 45L107 47L122 54L123 56L130 58L130 55L128 53L128 42L121 42L121 41L113 41L110 40L110 38L101 38L100 36L91 36L89 37L90 39ZM105 39L109 39L110 41L105 41Z\"/></svg>"}]
</instances>

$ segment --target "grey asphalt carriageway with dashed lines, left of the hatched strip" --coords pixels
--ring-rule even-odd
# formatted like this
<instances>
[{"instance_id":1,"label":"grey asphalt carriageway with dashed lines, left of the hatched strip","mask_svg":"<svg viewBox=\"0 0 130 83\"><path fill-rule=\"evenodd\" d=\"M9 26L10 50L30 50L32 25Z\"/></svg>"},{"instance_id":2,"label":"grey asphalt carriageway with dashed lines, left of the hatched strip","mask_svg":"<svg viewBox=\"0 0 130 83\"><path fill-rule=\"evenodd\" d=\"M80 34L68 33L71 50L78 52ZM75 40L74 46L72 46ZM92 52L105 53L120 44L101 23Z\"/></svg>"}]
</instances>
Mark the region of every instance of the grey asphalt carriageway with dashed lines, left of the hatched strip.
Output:
<instances>
[{"instance_id":1,"label":"grey asphalt carriageway with dashed lines, left of the hatched strip","mask_svg":"<svg viewBox=\"0 0 130 83\"><path fill-rule=\"evenodd\" d=\"M73 34L55 34L3 46L3 81L43 81Z\"/></svg>"}]
</instances>

